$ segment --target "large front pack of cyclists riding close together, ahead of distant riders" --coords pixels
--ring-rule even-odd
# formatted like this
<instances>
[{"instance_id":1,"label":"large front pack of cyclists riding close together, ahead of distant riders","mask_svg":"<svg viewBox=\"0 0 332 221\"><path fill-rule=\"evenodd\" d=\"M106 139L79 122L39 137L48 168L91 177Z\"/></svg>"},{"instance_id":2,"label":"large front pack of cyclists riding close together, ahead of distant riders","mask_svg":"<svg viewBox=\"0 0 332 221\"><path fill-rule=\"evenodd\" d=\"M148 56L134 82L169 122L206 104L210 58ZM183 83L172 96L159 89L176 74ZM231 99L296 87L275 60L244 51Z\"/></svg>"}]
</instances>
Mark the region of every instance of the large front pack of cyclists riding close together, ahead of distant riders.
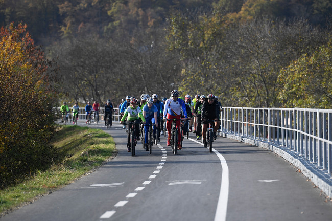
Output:
<instances>
[{"instance_id":1,"label":"large front pack of cyclists riding close together, ahead of distant riders","mask_svg":"<svg viewBox=\"0 0 332 221\"><path fill-rule=\"evenodd\" d=\"M204 147L207 147L206 142L206 130L210 120L214 121L214 139L217 138L216 131L220 125L220 111L222 110L221 103L218 102L218 98L213 94L209 94L207 97L204 95L196 95L194 100L191 100L189 95L185 96L185 99L179 97L179 92L173 90L169 99L162 98L162 101L158 100L158 95L153 94L151 97L147 94L140 96L140 101L135 97L126 96L125 101L120 106L121 120L123 128L126 128L126 120L128 122L134 122L136 138L140 138L139 124L144 124L144 144L145 150L148 151L148 128L150 124L153 124L153 137L160 141L160 133L162 134L163 124L166 124L168 131L167 146L171 146L171 127L172 120L176 119L176 126L180 127L180 120L186 124L183 127L183 134L179 133L178 137L178 149L181 150L182 136L186 135L187 128L192 131L192 125L194 125L194 132L196 132L197 139L199 140L203 136ZM162 120L161 120L162 119ZM169 121L167 121L169 119ZM190 126L187 126L189 124ZM201 131L202 125L202 131ZM127 124L127 131L129 131ZM127 133L127 151L130 152L130 135Z\"/></svg>"}]
</instances>

